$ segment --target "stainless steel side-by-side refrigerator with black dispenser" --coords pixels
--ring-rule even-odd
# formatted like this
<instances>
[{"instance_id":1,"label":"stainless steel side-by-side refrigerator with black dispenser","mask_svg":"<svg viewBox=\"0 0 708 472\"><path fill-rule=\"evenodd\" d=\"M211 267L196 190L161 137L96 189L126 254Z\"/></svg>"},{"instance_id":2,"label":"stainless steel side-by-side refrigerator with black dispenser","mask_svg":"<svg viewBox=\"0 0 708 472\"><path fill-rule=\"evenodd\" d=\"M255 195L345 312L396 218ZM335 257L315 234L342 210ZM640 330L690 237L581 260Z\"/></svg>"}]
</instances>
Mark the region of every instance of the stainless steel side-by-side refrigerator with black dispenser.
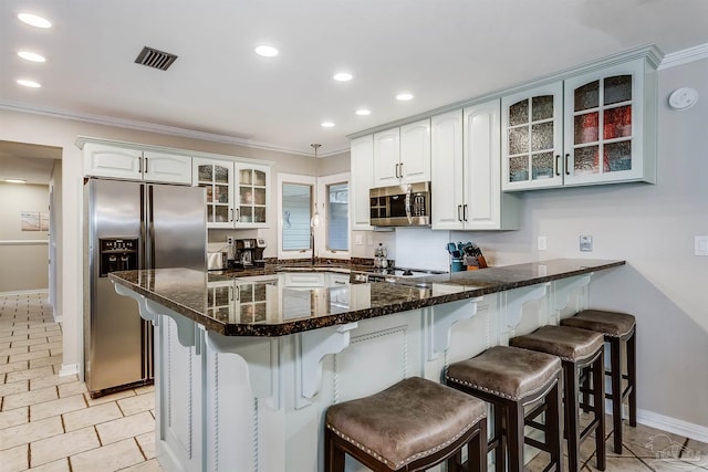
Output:
<instances>
[{"instance_id":1,"label":"stainless steel side-by-side refrigerator with black dispenser","mask_svg":"<svg viewBox=\"0 0 708 472\"><path fill-rule=\"evenodd\" d=\"M90 179L84 201L84 374L95 398L153 379L153 327L133 298L115 292L108 273L206 270L206 193L201 187Z\"/></svg>"}]
</instances>

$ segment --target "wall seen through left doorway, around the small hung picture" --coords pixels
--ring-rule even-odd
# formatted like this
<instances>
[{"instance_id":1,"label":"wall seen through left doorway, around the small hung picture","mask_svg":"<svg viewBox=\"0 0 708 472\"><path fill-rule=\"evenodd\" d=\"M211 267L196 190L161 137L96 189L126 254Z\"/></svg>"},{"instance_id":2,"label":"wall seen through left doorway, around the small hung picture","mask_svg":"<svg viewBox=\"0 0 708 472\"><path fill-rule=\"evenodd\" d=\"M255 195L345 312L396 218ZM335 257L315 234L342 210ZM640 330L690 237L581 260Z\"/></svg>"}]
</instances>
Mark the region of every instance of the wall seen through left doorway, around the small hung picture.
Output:
<instances>
[{"instance_id":1,"label":"wall seen through left doorway, around the small hung picture","mask_svg":"<svg viewBox=\"0 0 708 472\"><path fill-rule=\"evenodd\" d=\"M49 232L22 231L23 211L48 212L49 187L0 182L0 293L49 287Z\"/></svg>"}]
</instances>

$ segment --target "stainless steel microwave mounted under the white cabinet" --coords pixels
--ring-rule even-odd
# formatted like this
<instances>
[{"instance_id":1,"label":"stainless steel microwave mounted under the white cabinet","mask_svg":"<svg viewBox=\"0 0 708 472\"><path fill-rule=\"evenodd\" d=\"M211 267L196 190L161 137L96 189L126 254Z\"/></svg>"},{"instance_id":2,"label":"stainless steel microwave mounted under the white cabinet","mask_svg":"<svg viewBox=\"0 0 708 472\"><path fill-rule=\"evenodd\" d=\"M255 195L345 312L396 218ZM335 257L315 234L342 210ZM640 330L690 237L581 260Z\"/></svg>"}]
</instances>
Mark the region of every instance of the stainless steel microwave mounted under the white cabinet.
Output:
<instances>
[{"instance_id":1,"label":"stainless steel microwave mounted under the white cabinet","mask_svg":"<svg viewBox=\"0 0 708 472\"><path fill-rule=\"evenodd\" d=\"M374 227L430 225L430 182L373 188L368 199Z\"/></svg>"}]
</instances>

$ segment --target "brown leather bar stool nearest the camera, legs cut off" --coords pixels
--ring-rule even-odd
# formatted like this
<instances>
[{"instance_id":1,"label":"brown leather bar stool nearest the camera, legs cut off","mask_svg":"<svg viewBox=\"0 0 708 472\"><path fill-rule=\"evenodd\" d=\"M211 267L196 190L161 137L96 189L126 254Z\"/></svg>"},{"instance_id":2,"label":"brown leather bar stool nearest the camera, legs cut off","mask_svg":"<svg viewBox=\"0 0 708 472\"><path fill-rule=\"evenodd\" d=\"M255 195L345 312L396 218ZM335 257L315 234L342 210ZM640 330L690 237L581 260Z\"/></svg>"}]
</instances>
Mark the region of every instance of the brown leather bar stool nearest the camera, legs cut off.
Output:
<instances>
[{"instance_id":1,"label":"brown leather bar stool nearest the camera, legs cut off","mask_svg":"<svg viewBox=\"0 0 708 472\"><path fill-rule=\"evenodd\" d=\"M412 377L325 415L324 470L344 472L345 453L375 472L423 471L447 461L487 471L487 408L449 387Z\"/></svg>"}]
</instances>

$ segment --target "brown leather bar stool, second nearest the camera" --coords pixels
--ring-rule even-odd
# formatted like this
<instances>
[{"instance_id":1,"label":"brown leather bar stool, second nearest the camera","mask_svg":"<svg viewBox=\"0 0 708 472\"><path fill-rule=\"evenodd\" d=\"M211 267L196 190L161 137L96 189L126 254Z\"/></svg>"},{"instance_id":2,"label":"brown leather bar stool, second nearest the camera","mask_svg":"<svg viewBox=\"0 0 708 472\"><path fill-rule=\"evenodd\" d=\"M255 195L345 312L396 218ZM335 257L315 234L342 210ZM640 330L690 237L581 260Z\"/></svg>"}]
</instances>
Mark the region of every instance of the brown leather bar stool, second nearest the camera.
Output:
<instances>
[{"instance_id":1,"label":"brown leather bar stool, second nearest the camera","mask_svg":"<svg viewBox=\"0 0 708 472\"><path fill-rule=\"evenodd\" d=\"M494 421L493 438L488 444L496 450L498 472L523 471L523 444L549 452L545 470L562 471L561 449L561 361L556 356L494 346L479 356L451 364L445 374L448 386L491 403ZM524 407L541 401L524 415ZM535 418L545 412L545 423ZM524 426L545 432L544 443L524 437Z\"/></svg>"}]
</instances>

